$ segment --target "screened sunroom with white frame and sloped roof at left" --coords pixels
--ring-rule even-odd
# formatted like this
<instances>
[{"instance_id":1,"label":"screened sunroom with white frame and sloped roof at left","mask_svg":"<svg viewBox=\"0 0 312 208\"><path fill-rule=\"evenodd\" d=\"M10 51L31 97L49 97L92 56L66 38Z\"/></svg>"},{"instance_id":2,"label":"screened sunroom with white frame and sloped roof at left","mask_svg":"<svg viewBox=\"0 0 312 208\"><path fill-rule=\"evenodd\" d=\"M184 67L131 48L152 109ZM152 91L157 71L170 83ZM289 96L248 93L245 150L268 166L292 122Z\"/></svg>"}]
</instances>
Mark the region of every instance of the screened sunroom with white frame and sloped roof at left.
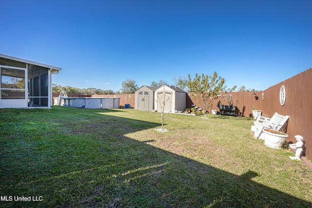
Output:
<instances>
[{"instance_id":1,"label":"screened sunroom with white frame and sloped roof at left","mask_svg":"<svg viewBox=\"0 0 312 208\"><path fill-rule=\"evenodd\" d=\"M0 54L0 108L50 108L61 68Z\"/></svg>"}]
</instances>

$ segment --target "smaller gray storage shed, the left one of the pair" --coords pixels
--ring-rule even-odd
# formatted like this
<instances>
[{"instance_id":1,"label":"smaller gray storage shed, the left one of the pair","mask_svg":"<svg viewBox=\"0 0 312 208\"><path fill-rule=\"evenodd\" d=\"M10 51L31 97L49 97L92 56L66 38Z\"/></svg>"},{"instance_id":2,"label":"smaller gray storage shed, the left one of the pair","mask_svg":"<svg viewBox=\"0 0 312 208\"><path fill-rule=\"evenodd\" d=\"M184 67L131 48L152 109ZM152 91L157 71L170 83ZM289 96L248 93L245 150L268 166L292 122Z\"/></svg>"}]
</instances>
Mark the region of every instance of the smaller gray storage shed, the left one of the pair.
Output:
<instances>
[{"instance_id":1,"label":"smaller gray storage shed, the left one of the pair","mask_svg":"<svg viewBox=\"0 0 312 208\"><path fill-rule=\"evenodd\" d=\"M143 85L135 92L135 109L143 111L152 111L154 109L155 87Z\"/></svg>"}]
</instances>

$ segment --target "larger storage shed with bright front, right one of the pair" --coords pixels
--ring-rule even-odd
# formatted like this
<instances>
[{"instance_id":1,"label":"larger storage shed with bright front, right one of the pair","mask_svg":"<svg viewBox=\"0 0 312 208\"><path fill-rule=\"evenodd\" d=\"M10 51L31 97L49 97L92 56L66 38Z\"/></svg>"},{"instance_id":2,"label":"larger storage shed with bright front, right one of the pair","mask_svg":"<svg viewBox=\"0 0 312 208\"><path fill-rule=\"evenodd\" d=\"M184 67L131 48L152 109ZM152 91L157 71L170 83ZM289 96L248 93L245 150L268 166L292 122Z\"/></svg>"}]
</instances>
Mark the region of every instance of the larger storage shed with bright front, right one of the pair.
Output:
<instances>
[{"instance_id":1,"label":"larger storage shed with bright front, right one of the pair","mask_svg":"<svg viewBox=\"0 0 312 208\"><path fill-rule=\"evenodd\" d=\"M175 113L175 111L184 111L186 108L186 92L172 85L164 84L155 91L154 109L161 111L160 106L165 100L164 113Z\"/></svg>"}]
</instances>

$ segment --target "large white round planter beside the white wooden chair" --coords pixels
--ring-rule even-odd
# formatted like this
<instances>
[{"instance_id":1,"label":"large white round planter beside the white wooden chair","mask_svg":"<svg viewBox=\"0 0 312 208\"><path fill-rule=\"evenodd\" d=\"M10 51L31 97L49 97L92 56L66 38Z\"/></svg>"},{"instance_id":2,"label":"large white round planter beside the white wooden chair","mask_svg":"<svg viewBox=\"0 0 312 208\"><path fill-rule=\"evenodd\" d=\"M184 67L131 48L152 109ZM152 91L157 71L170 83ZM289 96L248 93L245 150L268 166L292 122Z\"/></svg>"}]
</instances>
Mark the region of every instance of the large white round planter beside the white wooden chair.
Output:
<instances>
[{"instance_id":1,"label":"large white round planter beside the white wooden chair","mask_svg":"<svg viewBox=\"0 0 312 208\"><path fill-rule=\"evenodd\" d=\"M274 149L281 149L288 137L287 133L273 129L263 129L262 133L264 134L264 144Z\"/></svg>"}]
</instances>

